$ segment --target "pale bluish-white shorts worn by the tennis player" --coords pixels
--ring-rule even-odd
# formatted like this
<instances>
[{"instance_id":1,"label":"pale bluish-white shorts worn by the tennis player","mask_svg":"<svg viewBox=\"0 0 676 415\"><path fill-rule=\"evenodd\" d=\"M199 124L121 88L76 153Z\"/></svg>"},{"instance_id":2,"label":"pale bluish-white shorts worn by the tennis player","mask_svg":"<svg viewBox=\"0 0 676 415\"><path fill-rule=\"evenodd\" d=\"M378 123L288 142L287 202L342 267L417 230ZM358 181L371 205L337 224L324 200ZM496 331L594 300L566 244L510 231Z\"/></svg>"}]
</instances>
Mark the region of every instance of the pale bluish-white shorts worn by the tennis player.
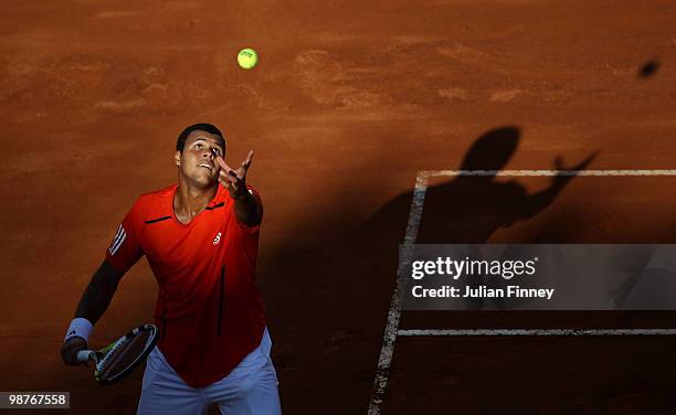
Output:
<instances>
[{"instance_id":1,"label":"pale bluish-white shorts worn by the tennis player","mask_svg":"<svg viewBox=\"0 0 676 415\"><path fill-rule=\"evenodd\" d=\"M267 328L261 344L228 376L193 389L183 382L156 347L148 355L138 403L138 415L205 414L218 404L223 415L279 415L277 373L270 357Z\"/></svg>"}]
</instances>

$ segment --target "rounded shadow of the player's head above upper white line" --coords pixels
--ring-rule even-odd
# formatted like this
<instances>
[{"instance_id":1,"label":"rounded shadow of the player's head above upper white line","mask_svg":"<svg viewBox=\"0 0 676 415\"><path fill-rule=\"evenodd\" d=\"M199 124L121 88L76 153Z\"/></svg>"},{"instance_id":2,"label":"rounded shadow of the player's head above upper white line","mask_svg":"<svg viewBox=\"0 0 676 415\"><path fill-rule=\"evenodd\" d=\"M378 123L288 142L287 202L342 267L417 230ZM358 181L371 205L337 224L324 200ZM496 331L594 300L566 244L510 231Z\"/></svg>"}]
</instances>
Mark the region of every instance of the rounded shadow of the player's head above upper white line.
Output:
<instances>
[{"instance_id":1,"label":"rounded shadow of the player's head above upper white line","mask_svg":"<svg viewBox=\"0 0 676 415\"><path fill-rule=\"evenodd\" d=\"M501 170L519 145L518 127L505 126L480 136L463 159L462 170Z\"/></svg>"}]
</instances>

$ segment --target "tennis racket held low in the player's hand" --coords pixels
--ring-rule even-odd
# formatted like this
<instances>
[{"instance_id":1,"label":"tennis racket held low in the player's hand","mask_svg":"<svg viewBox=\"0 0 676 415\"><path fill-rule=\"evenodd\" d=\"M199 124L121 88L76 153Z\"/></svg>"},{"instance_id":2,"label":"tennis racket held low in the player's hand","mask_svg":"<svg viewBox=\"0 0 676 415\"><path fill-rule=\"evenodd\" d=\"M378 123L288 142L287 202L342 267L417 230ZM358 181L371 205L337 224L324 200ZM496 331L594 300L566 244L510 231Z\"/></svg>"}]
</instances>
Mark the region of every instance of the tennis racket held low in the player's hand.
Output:
<instances>
[{"instance_id":1,"label":"tennis racket held low in the player's hand","mask_svg":"<svg viewBox=\"0 0 676 415\"><path fill-rule=\"evenodd\" d=\"M157 327L139 326L101 350L78 351L77 361L94 362L94 376L102 385L109 385L124 379L146 360L157 340Z\"/></svg>"}]
</instances>

